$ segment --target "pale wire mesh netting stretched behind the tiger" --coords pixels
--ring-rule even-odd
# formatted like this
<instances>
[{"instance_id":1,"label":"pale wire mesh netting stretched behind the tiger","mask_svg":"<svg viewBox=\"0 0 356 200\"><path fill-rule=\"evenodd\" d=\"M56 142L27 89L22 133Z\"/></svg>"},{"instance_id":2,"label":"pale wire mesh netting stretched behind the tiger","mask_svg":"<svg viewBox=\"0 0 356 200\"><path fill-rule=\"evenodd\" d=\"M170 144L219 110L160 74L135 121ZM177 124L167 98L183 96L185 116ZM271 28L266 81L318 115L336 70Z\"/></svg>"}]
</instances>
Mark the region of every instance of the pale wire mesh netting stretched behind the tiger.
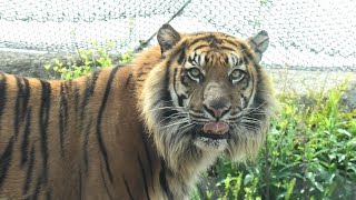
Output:
<instances>
[{"instance_id":1,"label":"pale wire mesh netting stretched behind the tiger","mask_svg":"<svg viewBox=\"0 0 356 200\"><path fill-rule=\"evenodd\" d=\"M75 52L110 41L125 52L169 21L182 32L243 38L266 30L269 68L356 71L355 8L354 0L0 0L0 50Z\"/></svg>"}]
</instances>

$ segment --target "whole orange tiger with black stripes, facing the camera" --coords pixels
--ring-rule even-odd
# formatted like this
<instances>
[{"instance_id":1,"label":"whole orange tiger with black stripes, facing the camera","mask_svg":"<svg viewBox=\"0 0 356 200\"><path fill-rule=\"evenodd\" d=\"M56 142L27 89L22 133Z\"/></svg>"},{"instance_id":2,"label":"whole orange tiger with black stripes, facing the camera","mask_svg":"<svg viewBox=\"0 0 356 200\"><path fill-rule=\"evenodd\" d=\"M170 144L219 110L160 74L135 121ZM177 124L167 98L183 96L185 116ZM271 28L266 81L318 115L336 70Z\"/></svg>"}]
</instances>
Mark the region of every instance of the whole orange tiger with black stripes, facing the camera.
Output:
<instances>
[{"instance_id":1,"label":"whole orange tiger with black stripes, facing the camera","mask_svg":"<svg viewBox=\"0 0 356 200\"><path fill-rule=\"evenodd\" d=\"M164 24L157 40L69 81L0 73L0 199L188 199L219 156L256 156L274 103L267 32Z\"/></svg>"}]
</instances>

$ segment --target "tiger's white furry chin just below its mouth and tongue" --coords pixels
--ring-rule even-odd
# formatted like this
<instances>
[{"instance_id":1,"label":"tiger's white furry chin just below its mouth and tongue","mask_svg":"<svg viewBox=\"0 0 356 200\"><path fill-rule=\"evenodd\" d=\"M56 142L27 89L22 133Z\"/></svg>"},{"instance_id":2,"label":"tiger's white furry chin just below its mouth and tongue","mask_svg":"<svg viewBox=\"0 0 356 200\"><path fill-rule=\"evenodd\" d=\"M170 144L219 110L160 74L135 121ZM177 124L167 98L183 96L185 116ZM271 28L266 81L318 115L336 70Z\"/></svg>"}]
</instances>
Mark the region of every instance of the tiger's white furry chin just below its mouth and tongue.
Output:
<instances>
[{"instance_id":1,"label":"tiger's white furry chin just below its mouth and tongue","mask_svg":"<svg viewBox=\"0 0 356 200\"><path fill-rule=\"evenodd\" d=\"M204 151L224 151L228 143L227 139L211 139L198 136L194 144Z\"/></svg>"}]
</instances>

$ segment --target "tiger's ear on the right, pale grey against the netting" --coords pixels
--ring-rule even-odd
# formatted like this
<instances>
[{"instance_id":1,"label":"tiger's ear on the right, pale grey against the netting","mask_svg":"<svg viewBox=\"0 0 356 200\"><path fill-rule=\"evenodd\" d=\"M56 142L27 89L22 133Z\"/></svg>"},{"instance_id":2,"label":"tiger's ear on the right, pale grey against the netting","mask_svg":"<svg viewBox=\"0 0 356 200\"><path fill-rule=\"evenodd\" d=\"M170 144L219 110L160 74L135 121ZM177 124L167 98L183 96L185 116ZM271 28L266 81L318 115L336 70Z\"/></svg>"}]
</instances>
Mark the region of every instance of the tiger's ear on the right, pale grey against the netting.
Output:
<instances>
[{"instance_id":1,"label":"tiger's ear on the right, pale grey against the netting","mask_svg":"<svg viewBox=\"0 0 356 200\"><path fill-rule=\"evenodd\" d=\"M263 53L267 50L269 44L269 37L267 31L259 31L255 37L247 39L248 44L255 51L256 60L259 62L263 58Z\"/></svg>"}]
</instances>

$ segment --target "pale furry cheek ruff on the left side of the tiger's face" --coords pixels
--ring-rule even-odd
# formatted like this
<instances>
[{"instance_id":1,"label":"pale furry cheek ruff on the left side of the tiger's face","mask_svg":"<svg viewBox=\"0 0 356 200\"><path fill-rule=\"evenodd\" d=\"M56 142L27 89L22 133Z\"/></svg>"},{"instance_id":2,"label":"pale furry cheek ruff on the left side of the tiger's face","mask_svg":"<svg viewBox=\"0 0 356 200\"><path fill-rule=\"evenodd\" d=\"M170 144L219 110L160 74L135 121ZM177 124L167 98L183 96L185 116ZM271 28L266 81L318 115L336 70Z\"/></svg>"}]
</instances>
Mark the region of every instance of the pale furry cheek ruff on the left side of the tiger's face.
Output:
<instances>
[{"instance_id":1,"label":"pale furry cheek ruff on the left side of the tiger's face","mask_svg":"<svg viewBox=\"0 0 356 200\"><path fill-rule=\"evenodd\" d=\"M199 152L191 149L191 138L179 130L179 122L175 121L178 111L172 102L169 89L170 62L152 69L144 86L141 99L141 114L159 154L172 169L179 168L179 160L198 157ZM177 124L175 124L177 123ZM192 153L194 152L194 153ZM188 154L185 154L188 153Z\"/></svg>"}]
</instances>

